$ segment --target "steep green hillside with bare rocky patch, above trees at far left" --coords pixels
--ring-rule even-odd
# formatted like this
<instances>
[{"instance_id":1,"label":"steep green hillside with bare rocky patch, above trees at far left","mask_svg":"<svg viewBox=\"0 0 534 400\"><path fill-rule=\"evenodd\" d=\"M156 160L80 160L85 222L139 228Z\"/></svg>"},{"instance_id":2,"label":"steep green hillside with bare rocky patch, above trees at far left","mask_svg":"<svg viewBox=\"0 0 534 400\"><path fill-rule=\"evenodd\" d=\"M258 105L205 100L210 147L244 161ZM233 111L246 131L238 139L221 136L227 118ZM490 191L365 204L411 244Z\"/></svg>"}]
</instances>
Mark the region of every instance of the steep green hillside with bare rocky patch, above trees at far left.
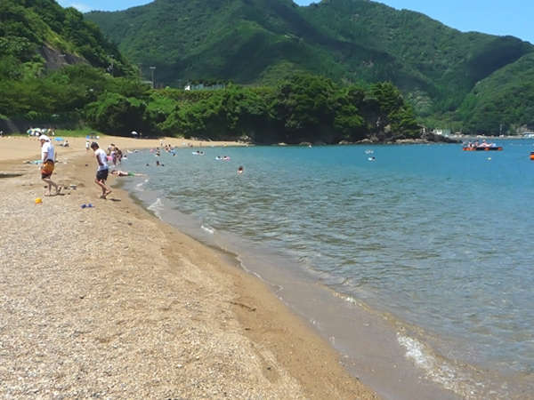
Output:
<instances>
[{"instance_id":1,"label":"steep green hillside with bare rocky patch, above trees at far left","mask_svg":"<svg viewBox=\"0 0 534 400\"><path fill-rule=\"evenodd\" d=\"M53 0L2 0L0 70L4 77L42 76L65 65L88 64L124 75L127 63L102 34L74 8Z\"/></svg>"}]
</instances>

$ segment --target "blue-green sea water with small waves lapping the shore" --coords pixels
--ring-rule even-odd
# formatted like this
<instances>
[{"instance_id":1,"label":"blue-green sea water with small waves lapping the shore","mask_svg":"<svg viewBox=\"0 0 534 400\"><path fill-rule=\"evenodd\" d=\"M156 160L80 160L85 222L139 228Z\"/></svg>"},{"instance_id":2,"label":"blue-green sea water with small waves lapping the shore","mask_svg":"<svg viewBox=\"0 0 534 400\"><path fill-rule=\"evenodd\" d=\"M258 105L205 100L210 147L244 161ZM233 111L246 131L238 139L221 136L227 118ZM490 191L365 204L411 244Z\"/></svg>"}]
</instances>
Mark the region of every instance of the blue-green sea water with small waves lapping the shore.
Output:
<instances>
[{"instance_id":1,"label":"blue-green sea water with small waves lapping the shore","mask_svg":"<svg viewBox=\"0 0 534 400\"><path fill-rule=\"evenodd\" d=\"M498 145L143 150L121 168L147 176L121 180L161 219L284 286L280 298L347 359L357 357L351 335L336 337L360 318L344 314L330 328L340 308L308 315L305 297L317 296L295 295L291 282L382 321L398 357L389 364L413 365L416 380L460 398L534 398L534 140Z\"/></svg>"}]
</instances>

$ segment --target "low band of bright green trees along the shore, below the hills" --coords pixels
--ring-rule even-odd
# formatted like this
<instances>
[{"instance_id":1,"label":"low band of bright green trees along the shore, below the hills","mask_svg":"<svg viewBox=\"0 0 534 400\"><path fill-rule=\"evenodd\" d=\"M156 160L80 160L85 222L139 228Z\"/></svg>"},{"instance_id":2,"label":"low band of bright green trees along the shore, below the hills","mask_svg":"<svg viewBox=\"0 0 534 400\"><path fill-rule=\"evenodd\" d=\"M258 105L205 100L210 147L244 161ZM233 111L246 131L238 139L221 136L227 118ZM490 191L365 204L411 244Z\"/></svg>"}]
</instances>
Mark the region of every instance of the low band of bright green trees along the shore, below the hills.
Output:
<instances>
[{"instance_id":1,"label":"low band of bright green trees along the shore, below the hills","mask_svg":"<svg viewBox=\"0 0 534 400\"><path fill-rule=\"evenodd\" d=\"M87 65L45 76L0 81L0 110L27 121L85 121L100 132L166 134L214 140L290 144L337 143L368 137L418 136L409 105L392 84L367 89L298 74L271 87L186 92L153 90Z\"/></svg>"}]
</instances>

